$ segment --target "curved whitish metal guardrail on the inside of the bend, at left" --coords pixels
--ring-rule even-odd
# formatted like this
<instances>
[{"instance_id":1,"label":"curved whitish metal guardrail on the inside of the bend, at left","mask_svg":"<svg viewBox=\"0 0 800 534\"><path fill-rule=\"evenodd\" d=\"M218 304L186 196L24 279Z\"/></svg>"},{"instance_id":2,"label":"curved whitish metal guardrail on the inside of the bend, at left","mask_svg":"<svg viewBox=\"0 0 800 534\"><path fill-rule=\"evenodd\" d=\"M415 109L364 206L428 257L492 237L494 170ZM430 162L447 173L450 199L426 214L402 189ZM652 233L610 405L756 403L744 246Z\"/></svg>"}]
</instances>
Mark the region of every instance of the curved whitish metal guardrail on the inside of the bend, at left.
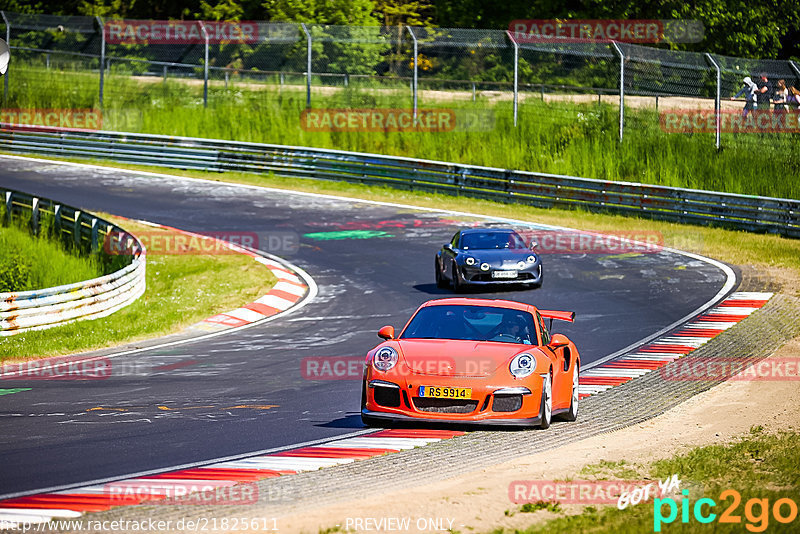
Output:
<instances>
[{"instance_id":1,"label":"curved whitish metal guardrail on the inside of the bend, at left","mask_svg":"<svg viewBox=\"0 0 800 534\"><path fill-rule=\"evenodd\" d=\"M145 290L145 250L118 226L77 208L0 188L4 200L3 222L27 215L34 231L43 216L52 228L80 249L97 250L106 239L124 239L119 250L130 250L124 268L93 280L35 291L0 293L0 336L41 330L80 320L110 315L138 299Z\"/></svg>"}]
</instances>

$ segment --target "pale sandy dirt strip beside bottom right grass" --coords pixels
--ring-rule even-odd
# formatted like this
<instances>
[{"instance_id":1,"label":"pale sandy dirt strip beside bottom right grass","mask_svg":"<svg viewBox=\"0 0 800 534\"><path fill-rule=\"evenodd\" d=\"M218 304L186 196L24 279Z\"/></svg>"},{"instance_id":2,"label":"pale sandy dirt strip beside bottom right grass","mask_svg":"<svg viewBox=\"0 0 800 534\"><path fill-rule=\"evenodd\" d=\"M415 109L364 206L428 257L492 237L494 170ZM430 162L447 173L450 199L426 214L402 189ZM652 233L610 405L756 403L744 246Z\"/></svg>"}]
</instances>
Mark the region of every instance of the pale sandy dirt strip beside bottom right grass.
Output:
<instances>
[{"instance_id":1,"label":"pale sandy dirt strip beside bottom right grass","mask_svg":"<svg viewBox=\"0 0 800 534\"><path fill-rule=\"evenodd\" d=\"M770 359L799 356L800 337ZM368 528L380 531L386 529L374 528L380 524L377 522L397 518L410 520L406 532L432 531L440 525L461 532L524 528L556 514L539 512L532 516L520 512L509 499L512 481L586 478L579 472L588 464L603 460L643 464L693 447L731 441L756 425L762 425L767 432L800 428L797 382L726 382L659 417L624 430L413 490L365 496L302 516L283 517L278 526L282 532L316 533L337 525L342 531L348 527L351 532ZM577 505L565 507L568 513L578 510ZM368 519L370 522L366 523ZM355 528L357 520L364 528Z\"/></svg>"}]
</instances>

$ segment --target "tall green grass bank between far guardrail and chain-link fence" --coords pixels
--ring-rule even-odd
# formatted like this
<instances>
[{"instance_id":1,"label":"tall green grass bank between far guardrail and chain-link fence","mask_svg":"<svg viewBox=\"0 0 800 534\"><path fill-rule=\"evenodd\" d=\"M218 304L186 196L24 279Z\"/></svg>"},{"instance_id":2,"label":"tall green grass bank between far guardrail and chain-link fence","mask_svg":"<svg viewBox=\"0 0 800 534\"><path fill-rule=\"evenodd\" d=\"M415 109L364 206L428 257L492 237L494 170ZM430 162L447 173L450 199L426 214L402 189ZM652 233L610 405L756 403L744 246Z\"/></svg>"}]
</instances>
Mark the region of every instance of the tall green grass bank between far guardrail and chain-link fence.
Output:
<instances>
[{"instance_id":1,"label":"tall green grass bank between far guardrail and chain-link fence","mask_svg":"<svg viewBox=\"0 0 800 534\"><path fill-rule=\"evenodd\" d=\"M717 152L713 134L667 134L653 110L627 110L628 130L618 141L612 105L524 99L519 127L508 101L425 101L420 106L488 111L490 131L309 132L300 128L305 93L274 85L232 81L210 88L202 107L197 80L107 77L104 128L238 141L328 147L742 194L800 198L800 143L795 134L725 135ZM407 91L347 88L314 90L314 108L408 108ZM8 108L93 108L97 76L18 65Z\"/></svg>"}]
</instances>

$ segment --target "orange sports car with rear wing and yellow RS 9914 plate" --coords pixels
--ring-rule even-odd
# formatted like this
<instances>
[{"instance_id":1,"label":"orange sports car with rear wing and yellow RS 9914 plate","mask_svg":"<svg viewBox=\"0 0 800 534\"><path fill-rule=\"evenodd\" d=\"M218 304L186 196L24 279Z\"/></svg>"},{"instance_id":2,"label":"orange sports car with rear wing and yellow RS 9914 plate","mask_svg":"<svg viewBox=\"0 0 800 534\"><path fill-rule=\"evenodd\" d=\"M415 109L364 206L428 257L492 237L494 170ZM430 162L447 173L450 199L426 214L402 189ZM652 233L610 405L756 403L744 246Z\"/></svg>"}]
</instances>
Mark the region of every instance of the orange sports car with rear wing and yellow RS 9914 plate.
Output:
<instances>
[{"instance_id":1,"label":"orange sports car with rear wing and yellow RS 9914 plate","mask_svg":"<svg viewBox=\"0 0 800 534\"><path fill-rule=\"evenodd\" d=\"M545 319L574 312L509 300L448 298L420 306L399 335L367 354L361 419L547 428L578 415L580 355Z\"/></svg>"}]
</instances>

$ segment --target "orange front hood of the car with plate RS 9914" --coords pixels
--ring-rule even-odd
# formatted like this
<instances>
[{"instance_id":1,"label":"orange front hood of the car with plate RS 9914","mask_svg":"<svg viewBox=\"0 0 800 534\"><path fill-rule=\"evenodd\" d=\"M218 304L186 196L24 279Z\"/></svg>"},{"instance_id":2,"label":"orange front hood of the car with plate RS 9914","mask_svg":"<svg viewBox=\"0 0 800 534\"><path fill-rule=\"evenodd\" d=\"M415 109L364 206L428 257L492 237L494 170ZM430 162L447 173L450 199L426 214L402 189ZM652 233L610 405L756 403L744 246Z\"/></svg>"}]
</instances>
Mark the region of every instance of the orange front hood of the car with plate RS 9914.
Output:
<instances>
[{"instance_id":1,"label":"orange front hood of the car with plate RS 9914","mask_svg":"<svg viewBox=\"0 0 800 534\"><path fill-rule=\"evenodd\" d=\"M530 345L451 339L404 339L398 342L412 372L430 376L490 376Z\"/></svg>"}]
</instances>

